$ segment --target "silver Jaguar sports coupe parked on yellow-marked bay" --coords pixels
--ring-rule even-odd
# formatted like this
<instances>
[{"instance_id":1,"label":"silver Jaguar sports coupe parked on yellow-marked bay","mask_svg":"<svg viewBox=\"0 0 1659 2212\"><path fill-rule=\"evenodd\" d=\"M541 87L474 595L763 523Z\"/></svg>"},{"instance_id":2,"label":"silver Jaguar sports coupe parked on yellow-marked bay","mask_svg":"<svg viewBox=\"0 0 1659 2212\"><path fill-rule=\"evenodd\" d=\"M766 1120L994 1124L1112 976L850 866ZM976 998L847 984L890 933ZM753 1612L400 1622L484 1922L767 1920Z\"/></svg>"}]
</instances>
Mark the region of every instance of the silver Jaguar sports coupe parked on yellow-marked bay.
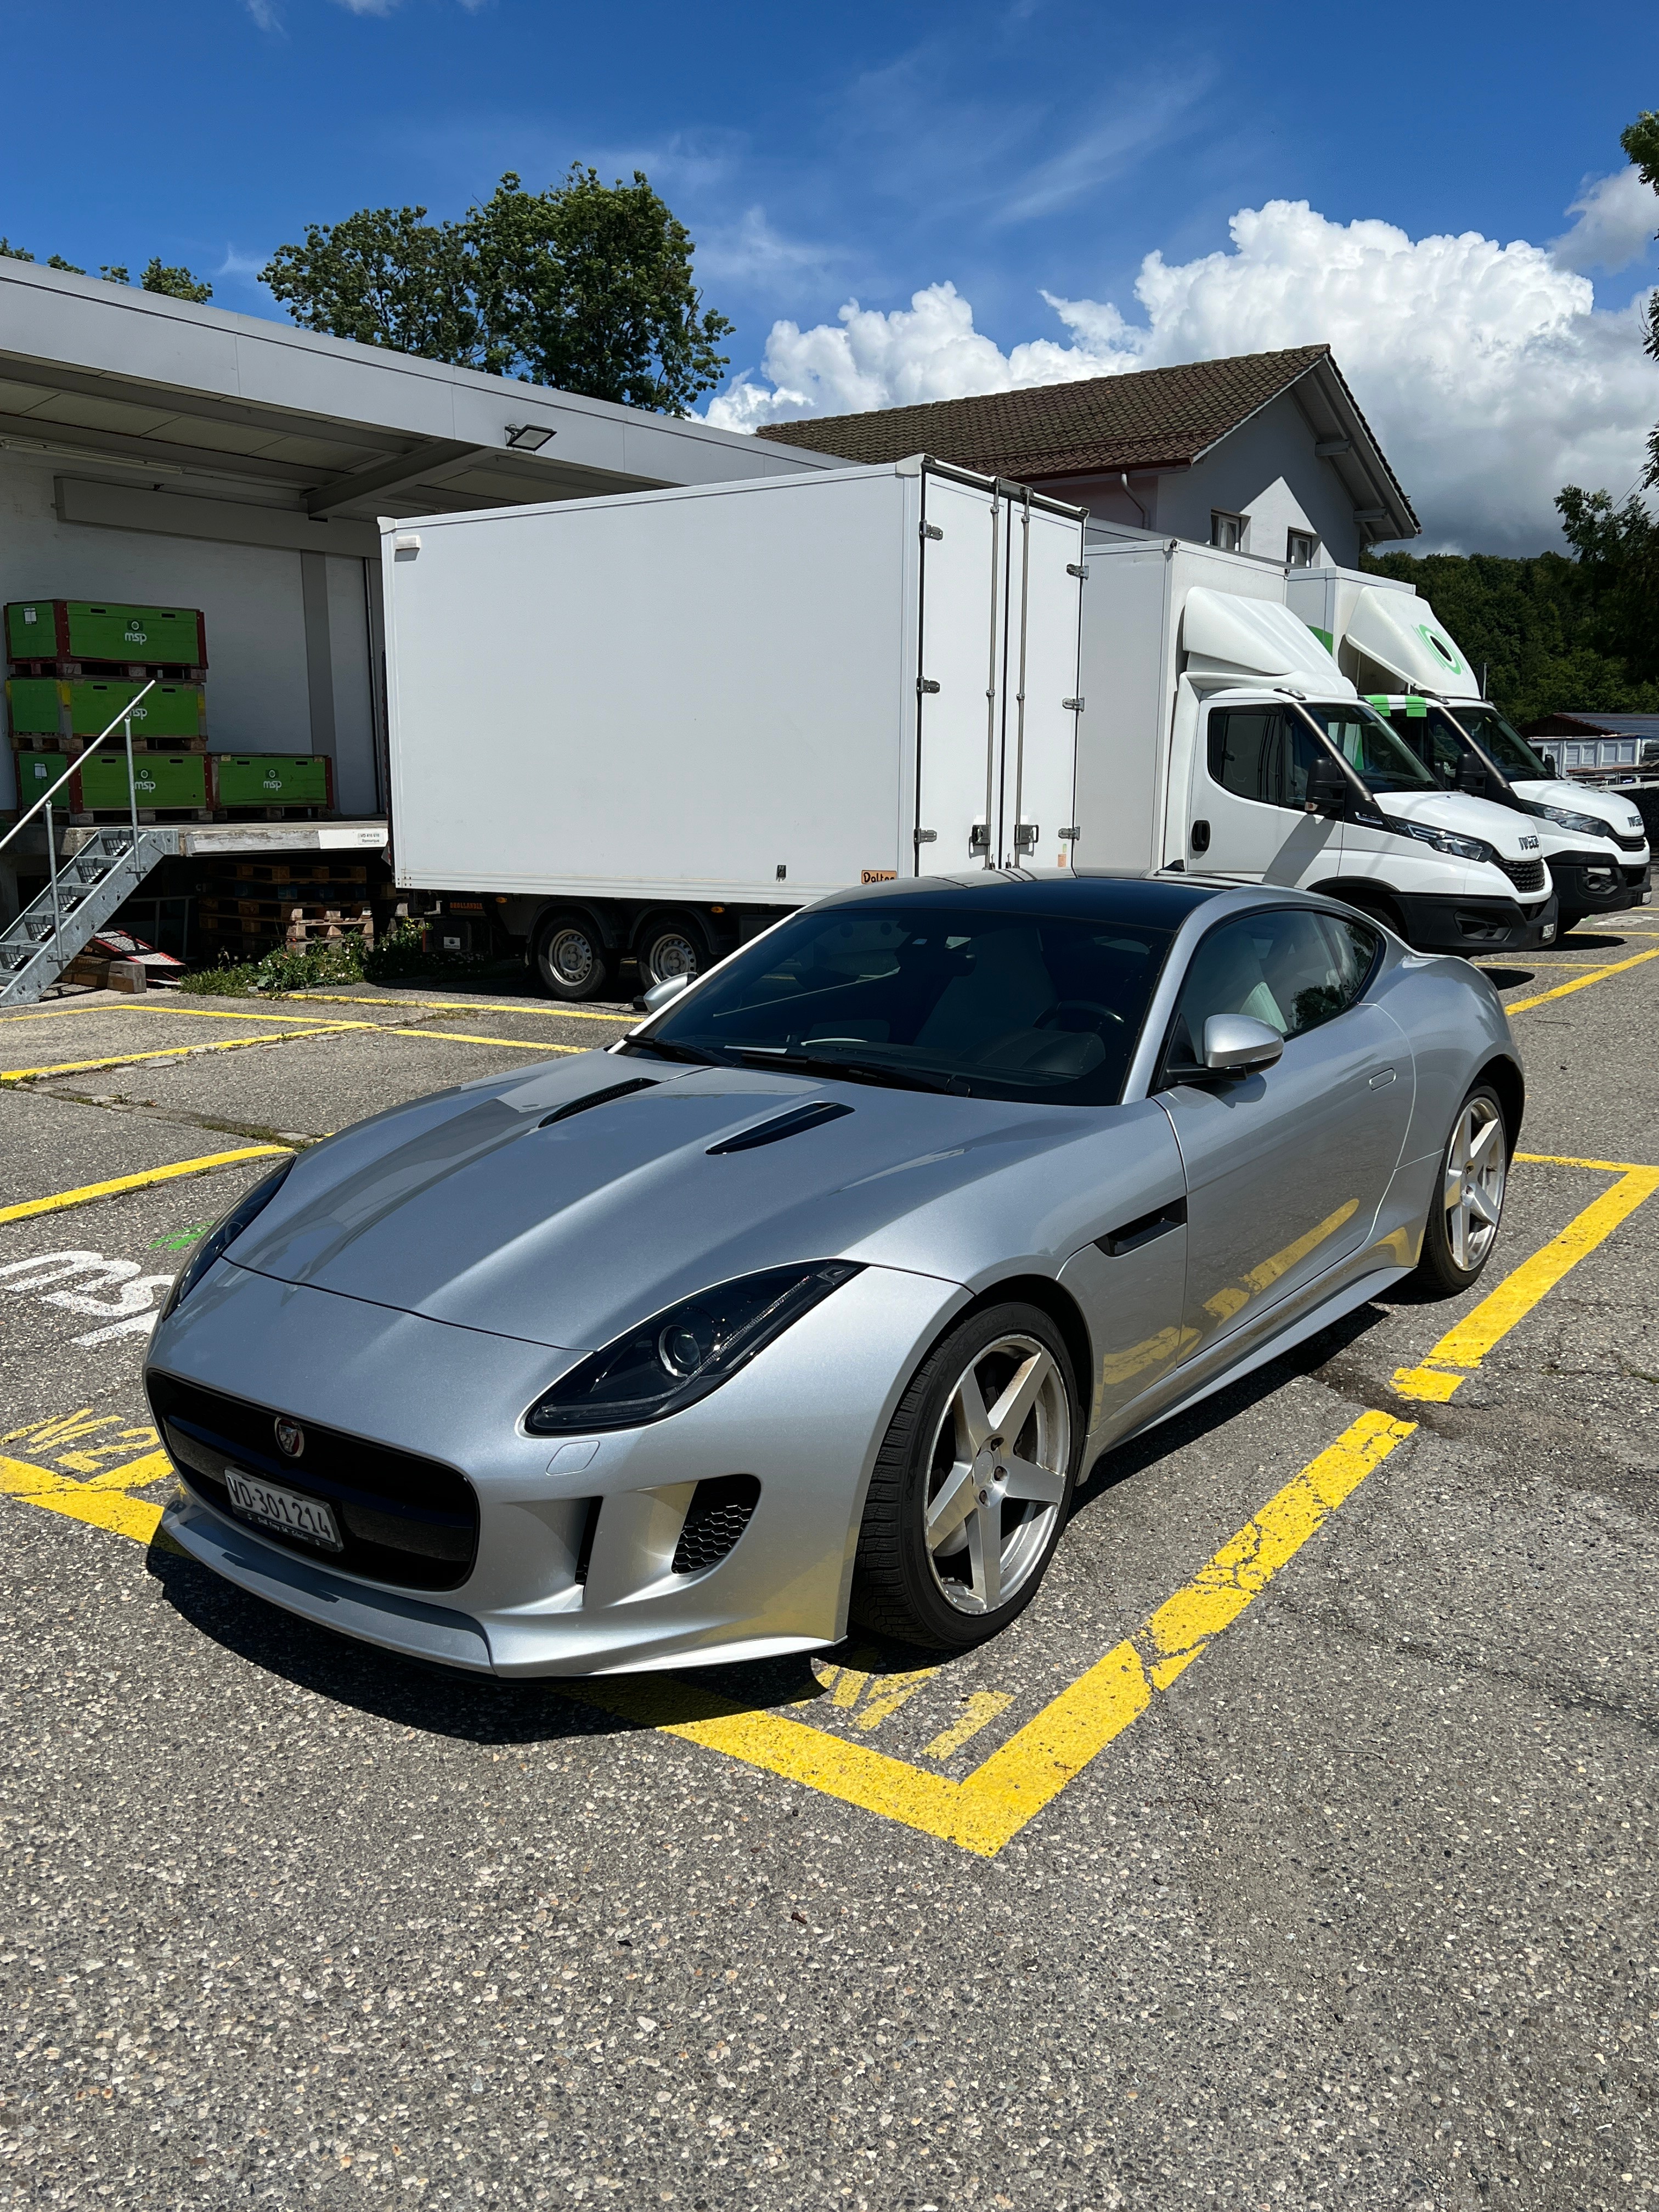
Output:
<instances>
[{"instance_id":1,"label":"silver Jaguar sports coupe parked on yellow-marked bay","mask_svg":"<svg viewBox=\"0 0 1659 2212\"><path fill-rule=\"evenodd\" d=\"M1467 1290L1520 1113L1486 978L1334 900L847 891L232 1208L146 1369L166 1528L498 1674L969 1646L1102 1449Z\"/></svg>"}]
</instances>

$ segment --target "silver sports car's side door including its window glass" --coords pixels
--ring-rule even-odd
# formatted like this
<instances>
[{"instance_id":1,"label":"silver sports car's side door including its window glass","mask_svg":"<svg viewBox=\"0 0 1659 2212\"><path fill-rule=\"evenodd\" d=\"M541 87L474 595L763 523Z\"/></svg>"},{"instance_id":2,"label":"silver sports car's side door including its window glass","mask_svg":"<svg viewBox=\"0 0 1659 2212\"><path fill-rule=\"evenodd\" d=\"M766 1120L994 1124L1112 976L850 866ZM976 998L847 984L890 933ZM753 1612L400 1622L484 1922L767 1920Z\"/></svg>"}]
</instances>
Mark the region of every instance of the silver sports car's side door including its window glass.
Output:
<instances>
[{"instance_id":1,"label":"silver sports car's side door including its window glass","mask_svg":"<svg viewBox=\"0 0 1659 2212\"><path fill-rule=\"evenodd\" d=\"M1360 998L1376 931L1305 907L1217 925L1197 947L1166 1060L1203 1057L1214 1013L1285 1037L1243 1079L1170 1082L1186 1170L1183 1356L1197 1358L1314 1285L1369 1237L1405 1146L1413 1068L1405 1033Z\"/></svg>"}]
</instances>

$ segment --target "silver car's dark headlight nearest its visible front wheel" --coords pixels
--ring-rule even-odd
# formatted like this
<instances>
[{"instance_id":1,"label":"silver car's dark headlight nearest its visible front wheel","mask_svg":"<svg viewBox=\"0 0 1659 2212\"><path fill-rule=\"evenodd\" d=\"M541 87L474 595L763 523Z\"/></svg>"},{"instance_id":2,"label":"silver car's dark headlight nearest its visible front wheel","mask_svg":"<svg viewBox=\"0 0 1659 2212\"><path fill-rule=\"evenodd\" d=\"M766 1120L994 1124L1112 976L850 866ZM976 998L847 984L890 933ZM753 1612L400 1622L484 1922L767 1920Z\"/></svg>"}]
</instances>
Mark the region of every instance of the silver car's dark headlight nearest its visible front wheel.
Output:
<instances>
[{"instance_id":1,"label":"silver car's dark headlight nearest its visible front wheel","mask_svg":"<svg viewBox=\"0 0 1659 2212\"><path fill-rule=\"evenodd\" d=\"M666 1420L719 1389L854 1274L860 1267L852 1261L812 1261L681 1298L560 1376L529 1409L524 1427L531 1436L557 1436Z\"/></svg>"}]
</instances>

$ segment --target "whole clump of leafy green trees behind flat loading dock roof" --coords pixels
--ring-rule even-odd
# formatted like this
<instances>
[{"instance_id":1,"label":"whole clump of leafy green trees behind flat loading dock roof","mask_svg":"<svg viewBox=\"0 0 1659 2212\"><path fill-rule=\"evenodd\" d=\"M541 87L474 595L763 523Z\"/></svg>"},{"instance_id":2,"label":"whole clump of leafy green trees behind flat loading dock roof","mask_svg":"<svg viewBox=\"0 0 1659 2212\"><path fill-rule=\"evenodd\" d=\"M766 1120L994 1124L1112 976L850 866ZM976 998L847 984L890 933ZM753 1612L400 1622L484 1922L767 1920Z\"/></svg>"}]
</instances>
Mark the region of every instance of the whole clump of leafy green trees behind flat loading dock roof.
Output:
<instances>
[{"instance_id":1,"label":"whole clump of leafy green trees behind flat loading dock roof","mask_svg":"<svg viewBox=\"0 0 1659 2212\"><path fill-rule=\"evenodd\" d=\"M644 173L608 186L580 164L544 192L509 170L458 223L425 208L310 223L261 279L305 330L659 414L719 385L732 327Z\"/></svg>"}]
</instances>

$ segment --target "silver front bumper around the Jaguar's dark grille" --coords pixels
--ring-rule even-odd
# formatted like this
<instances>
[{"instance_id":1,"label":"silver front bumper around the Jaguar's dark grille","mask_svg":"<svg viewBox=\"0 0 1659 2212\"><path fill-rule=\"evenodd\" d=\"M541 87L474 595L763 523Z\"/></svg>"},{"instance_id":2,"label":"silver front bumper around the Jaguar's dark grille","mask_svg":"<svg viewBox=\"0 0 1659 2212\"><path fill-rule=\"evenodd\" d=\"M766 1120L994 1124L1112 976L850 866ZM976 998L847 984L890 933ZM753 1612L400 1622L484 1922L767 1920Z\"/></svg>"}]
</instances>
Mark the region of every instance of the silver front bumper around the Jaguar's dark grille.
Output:
<instances>
[{"instance_id":1,"label":"silver front bumper around the Jaguar's dark grille","mask_svg":"<svg viewBox=\"0 0 1659 2212\"><path fill-rule=\"evenodd\" d=\"M192 1486L190 1469L164 1528L201 1566L316 1626L473 1672L602 1674L814 1650L845 1635L858 1517L891 1411L962 1303L967 1292L938 1276L865 1267L670 1420L540 1438L522 1433L520 1413L580 1354L226 1263L157 1329L150 1367L272 1420L460 1471L478 1498L478 1551L449 1590L369 1582L246 1526L199 1475ZM697 1484L732 1473L761 1484L748 1526L714 1566L675 1575ZM270 1480L305 1491L303 1460Z\"/></svg>"}]
</instances>

